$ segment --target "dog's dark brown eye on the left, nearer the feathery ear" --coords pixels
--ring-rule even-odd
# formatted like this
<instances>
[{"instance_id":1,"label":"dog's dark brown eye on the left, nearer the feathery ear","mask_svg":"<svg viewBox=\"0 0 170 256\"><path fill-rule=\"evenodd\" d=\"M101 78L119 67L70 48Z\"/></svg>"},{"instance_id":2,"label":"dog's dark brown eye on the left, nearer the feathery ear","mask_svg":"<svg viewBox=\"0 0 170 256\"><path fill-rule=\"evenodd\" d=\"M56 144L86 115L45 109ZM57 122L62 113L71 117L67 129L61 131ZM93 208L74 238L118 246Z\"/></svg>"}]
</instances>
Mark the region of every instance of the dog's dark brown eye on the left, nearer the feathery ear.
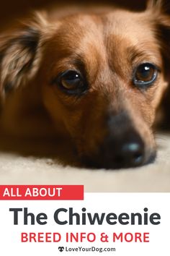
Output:
<instances>
[{"instance_id":1,"label":"dog's dark brown eye on the left, nearer the feathery ear","mask_svg":"<svg viewBox=\"0 0 170 256\"><path fill-rule=\"evenodd\" d=\"M69 94L80 94L86 90L86 82L81 74L75 70L66 70L59 74L55 82L58 83L61 90Z\"/></svg>"}]
</instances>

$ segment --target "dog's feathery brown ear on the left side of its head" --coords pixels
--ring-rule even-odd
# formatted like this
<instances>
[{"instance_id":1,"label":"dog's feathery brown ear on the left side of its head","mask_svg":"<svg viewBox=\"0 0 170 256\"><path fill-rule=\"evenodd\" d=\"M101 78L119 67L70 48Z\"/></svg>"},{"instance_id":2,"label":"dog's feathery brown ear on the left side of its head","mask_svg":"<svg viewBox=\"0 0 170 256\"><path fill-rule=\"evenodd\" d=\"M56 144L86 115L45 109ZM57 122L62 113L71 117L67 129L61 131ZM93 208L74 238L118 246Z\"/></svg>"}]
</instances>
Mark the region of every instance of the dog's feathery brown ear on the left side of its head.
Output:
<instances>
[{"instance_id":1,"label":"dog's feathery brown ear on the left side of its head","mask_svg":"<svg viewBox=\"0 0 170 256\"><path fill-rule=\"evenodd\" d=\"M36 13L9 35L0 38L0 86L1 94L32 78L40 62L42 30L48 22L45 14Z\"/></svg>"}]
</instances>

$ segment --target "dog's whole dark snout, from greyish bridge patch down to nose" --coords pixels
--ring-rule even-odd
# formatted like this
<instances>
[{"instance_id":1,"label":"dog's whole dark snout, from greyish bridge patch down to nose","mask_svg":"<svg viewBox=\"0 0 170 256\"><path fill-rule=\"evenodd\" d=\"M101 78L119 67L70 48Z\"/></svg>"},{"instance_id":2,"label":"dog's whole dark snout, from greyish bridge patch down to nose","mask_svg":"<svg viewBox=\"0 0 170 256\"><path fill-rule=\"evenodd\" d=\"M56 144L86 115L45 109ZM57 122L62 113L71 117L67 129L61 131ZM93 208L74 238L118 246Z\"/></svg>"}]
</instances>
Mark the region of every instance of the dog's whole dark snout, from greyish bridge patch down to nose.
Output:
<instances>
[{"instance_id":1,"label":"dog's whole dark snout, from greyish bridge patch down to nose","mask_svg":"<svg viewBox=\"0 0 170 256\"><path fill-rule=\"evenodd\" d=\"M133 168L151 163L156 157L155 148L147 144L127 113L110 115L106 134L97 150L84 157L86 166L92 168Z\"/></svg>"}]
</instances>

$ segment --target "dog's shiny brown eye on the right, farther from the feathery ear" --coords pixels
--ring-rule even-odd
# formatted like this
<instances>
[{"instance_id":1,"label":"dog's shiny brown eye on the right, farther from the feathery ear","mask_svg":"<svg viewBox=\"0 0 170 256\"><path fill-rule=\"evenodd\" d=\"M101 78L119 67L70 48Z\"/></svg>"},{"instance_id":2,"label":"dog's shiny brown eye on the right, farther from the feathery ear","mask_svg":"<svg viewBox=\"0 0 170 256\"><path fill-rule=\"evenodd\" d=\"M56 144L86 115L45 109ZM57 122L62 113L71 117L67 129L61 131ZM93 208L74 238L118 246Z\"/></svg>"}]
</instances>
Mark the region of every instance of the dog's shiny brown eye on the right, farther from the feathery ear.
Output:
<instances>
[{"instance_id":1,"label":"dog's shiny brown eye on the right, farther from the feathery ear","mask_svg":"<svg viewBox=\"0 0 170 256\"><path fill-rule=\"evenodd\" d=\"M133 82L138 87L148 87L156 81L157 76L158 68L151 63L144 63L135 69Z\"/></svg>"}]
</instances>

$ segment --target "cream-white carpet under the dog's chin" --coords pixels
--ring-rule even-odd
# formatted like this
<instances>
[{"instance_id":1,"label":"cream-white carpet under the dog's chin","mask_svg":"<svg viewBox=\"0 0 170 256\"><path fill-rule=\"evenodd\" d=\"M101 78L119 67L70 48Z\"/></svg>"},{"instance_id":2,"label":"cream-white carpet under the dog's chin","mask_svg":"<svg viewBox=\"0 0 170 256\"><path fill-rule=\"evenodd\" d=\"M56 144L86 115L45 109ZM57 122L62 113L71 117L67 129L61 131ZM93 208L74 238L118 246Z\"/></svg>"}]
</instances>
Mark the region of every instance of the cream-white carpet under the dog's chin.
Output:
<instances>
[{"instance_id":1,"label":"cream-white carpet under the dog's chin","mask_svg":"<svg viewBox=\"0 0 170 256\"><path fill-rule=\"evenodd\" d=\"M63 167L55 158L9 153L3 145L0 184L84 184L86 192L170 192L170 135L157 137L155 163L119 171ZM36 147L30 145L30 152Z\"/></svg>"}]
</instances>

